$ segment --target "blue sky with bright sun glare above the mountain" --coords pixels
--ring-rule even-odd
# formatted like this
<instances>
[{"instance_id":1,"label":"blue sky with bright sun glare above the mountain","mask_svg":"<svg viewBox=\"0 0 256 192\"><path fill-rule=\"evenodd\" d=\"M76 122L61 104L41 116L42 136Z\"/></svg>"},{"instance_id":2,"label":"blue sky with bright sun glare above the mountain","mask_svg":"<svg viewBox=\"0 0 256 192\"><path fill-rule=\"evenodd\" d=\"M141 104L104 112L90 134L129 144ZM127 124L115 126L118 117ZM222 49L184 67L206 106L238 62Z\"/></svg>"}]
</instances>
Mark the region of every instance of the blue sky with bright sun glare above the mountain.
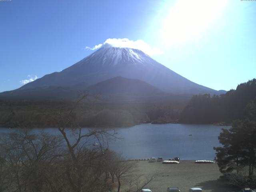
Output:
<instances>
[{"instance_id":1,"label":"blue sky with bright sun glare above the mountain","mask_svg":"<svg viewBox=\"0 0 256 192\"><path fill-rule=\"evenodd\" d=\"M0 92L61 71L108 38L143 40L171 70L230 90L256 78L255 24L256 1L0 1Z\"/></svg>"}]
</instances>

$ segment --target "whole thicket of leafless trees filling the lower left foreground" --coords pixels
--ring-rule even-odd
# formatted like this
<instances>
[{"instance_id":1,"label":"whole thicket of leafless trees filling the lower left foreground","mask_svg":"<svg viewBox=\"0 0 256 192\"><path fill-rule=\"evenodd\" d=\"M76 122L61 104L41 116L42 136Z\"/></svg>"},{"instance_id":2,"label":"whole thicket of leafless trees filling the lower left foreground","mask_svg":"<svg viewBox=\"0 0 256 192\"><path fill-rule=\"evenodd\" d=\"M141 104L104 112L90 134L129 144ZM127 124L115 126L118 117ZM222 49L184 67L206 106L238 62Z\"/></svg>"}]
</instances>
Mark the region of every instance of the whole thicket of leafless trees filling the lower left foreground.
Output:
<instances>
[{"instance_id":1,"label":"whole thicket of leafless trees filling the lower left foreground","mask_svg":"<svg viewBox=\"0 0 256 192\"><path fill-rule=\"evenodd\" d=\"M135 164L108 149L115 130L76 125L72 112L80 101L58 115L57 136L20 129L0 138L1 192L104 192L115 179L120 192L121 182L134 184Z\"/></svg>"}]
</instances>

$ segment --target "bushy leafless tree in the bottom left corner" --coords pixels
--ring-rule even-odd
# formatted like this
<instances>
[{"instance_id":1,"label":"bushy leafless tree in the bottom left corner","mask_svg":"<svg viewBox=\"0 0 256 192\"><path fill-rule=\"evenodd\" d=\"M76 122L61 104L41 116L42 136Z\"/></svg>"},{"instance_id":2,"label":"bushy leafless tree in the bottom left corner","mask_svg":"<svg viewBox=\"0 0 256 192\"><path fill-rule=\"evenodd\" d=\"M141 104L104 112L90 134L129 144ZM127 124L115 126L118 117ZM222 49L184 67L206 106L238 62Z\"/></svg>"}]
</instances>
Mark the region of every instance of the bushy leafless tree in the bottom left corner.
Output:
<instances>
[{"instance_id":1,"label":"bushy leafless tree in the bottom left corner","mask_svg":"<svg viewBox=\"0 0 256 192\"><path fill-rule=\"evenodd\" d=\"M5 154L4 166L10 173L10 190L42 191L47 180L45 172L58 158L56 149L59 146L60 140L44 132L35 135L20 130L2 137L1 153Z\"/></svg>"}]
</instances>

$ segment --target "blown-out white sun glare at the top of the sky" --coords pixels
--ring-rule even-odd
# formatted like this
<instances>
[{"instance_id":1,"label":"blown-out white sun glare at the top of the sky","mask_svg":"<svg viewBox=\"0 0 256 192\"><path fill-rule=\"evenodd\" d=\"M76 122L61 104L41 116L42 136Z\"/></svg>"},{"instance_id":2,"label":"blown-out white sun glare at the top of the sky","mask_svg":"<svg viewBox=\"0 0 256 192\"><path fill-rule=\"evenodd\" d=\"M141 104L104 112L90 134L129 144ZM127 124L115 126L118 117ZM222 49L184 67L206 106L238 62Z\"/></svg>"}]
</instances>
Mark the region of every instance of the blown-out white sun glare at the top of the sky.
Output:
<instances>
[{"instance_id":1,"label":"blown-out white sun glare at the top of the sky","mask_svg":"<svg viewBox=\"0 0 256 192\"><path fill-rule=\"evenodd\" d=\"M177 0L163 19L160 36L166 45L183 44L220 20L228 0Z\"/></svg>"}]
</instances>

